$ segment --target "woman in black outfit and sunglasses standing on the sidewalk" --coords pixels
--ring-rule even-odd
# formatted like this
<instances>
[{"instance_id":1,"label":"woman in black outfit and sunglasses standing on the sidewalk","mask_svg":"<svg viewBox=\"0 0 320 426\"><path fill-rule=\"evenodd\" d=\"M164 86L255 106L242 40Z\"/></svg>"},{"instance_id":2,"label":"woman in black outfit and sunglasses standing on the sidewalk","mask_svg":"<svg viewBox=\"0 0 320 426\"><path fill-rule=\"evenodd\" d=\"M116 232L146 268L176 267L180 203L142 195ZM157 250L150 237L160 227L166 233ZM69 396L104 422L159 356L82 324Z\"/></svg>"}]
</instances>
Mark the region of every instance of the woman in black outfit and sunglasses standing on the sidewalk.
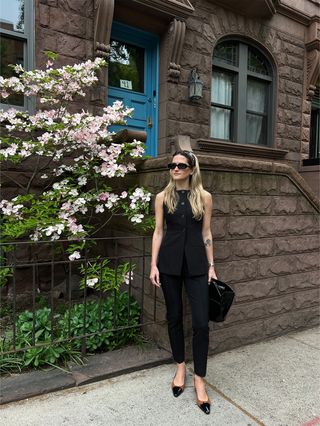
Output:
<instances>
[{"instance_id":1,"label":"woman in black outfit and sunglasses standing on the sidewalk","mask_svg":"<svg viewBox=\"0 0 320 426\"><path fill-rule=\"evenodd\" d=\"M206 375L209 344L208 283L217 278L211 235L211 194L203 189L199 162L189 151L177 151L168 164L170 181L155 200L156 226L152 239L150 280L163 290L168 333L176 374L171 383L178 397L185 388L185 352L182 323L182 284L191 305L194 388L197 404L210 413ZM164 220L166 234L164 235Z\"/></svg>"}]
</instances>

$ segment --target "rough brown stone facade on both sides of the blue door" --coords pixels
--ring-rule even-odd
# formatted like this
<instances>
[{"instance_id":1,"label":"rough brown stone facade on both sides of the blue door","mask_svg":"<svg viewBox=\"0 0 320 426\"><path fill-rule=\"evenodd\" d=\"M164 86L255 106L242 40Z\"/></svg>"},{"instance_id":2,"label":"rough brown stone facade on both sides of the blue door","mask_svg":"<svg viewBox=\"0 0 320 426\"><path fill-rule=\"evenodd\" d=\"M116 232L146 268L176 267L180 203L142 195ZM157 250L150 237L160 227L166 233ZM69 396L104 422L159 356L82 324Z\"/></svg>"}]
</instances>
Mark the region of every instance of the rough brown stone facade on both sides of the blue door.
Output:
<instances>
[{"instance_id":1,"label":"rough brown stone facade on both sides of the blue door","mask_svg":"<svg viewBox=\"0 0 320 426\"><path fill-rule=\"evenodd\" d=\"M44 65L43 50L57 52L60 55L59 65L92 58L95 5L94 0L36 0L37 67ZM199 139L209 138L212 55L221 38L234 36L257 43L273 63L273 146L289 151L286 161L298 169L301 159L306 158L309 152L310 103L306 98L308 90L304 82L307 74L306 28L279 14L269 20L241 16L215 5L213 1L197 0L193 6L195 12L186 20L178 82L170 82L167 77L169 21L165 24L160 19L162 26L157 27L161 36L159 153L170 152L177 135L189 135L194 149L198 148ZM117 13L119 10L116 7L117 19L129 23L124 11L119 16ZM141 10L134 13L137 15L137 25L141 26ZM204 81L204 97L197 103L191 103L188 99L188 79L194 67L198 68ZM104 84L104 79L102 82ZM107 96L105 89L97 89L94 96L100 105ZM78 107L86 107L84 104L82 102Z\"/></svg>"}]
</instances>

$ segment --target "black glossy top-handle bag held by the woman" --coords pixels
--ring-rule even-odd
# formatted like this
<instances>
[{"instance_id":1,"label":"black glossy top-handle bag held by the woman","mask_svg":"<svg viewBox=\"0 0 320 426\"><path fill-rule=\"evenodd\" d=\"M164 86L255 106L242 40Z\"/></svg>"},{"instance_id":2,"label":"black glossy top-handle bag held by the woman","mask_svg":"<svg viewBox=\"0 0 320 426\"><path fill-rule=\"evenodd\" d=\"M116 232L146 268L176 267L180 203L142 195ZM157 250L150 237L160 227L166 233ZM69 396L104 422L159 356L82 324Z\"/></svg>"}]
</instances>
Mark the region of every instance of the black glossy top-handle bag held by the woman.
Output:
<instances>
[{"instance_id":1,"label":"black glossy top-handle bag held by the woman","mask_svg":"<svg viewBox=\"0 0 320 426\"><path fill-rule=\"evenodd\" d=\"M209 320L222 322L234 299L234 291L223 281L212 279L209 285Z\"/></svg>"}]
</instances>

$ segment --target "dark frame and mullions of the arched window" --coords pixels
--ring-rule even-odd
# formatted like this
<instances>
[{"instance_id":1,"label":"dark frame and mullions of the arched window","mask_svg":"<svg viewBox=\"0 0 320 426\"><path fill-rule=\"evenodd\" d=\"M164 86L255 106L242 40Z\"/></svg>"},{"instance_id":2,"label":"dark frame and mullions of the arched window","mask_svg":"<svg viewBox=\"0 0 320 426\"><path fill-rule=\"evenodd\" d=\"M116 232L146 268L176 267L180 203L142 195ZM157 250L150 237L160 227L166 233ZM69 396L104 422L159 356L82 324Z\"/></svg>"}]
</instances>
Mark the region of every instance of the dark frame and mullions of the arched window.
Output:
<instances>
[{"instance_id":1,"label":"dark frame and mullions of the arched window","mask_svg":"<svg viewBox=\"0 0 320 426\"><path fill-rule=\"evenodd\" d=\"M262 146L262 147L273 147L274 145L274 103L275 103L275 68L273 65L273 61L271 60L270 56L263 51L258 45L248 41L243 40L241 38L224 38L223 40L219 40L219 42L216 44L215 48L220 44L224 42L234 42L238 44L238 66L228 64L224 62L223 60L219 58L214 57L214 51L213 50L213 60L212 60L212 75L214 71L226 71L231 72L235 75L234 79L234 102L233 102L233 111L234 111L234 118L233 122L231 123L231 138L230 139L218 139L213 138L211 136L211 139L217 140L217 141L223 141L223 142L232 142L237 144L243 144L243 145L253 145L253 146ZM268 67L269 75L259 74L253 71L248 70L248 52L249 47L254 48L257 50L265 59L266 65ZM265 113L258 113L256 111L250 111L247 110L247 82L248 78L256 79L261 82L266 82L268 84L267 90L266 90L266 112ZM241 89L240 89L241 88ZM212 88L211 88L212 90ZM210 106L218 106L218 104L214 102L210 102ZM255 143L249 143L247 142L246 137L246 126L247 126L247 119L246 115L248 114L254 114L257 116L266 116L266 139L265 144L255 144ZM210 134L211 134L211 126L212 126L212 116L211 116L211 108L210 108Z\"/></svg>"}]
</instances>

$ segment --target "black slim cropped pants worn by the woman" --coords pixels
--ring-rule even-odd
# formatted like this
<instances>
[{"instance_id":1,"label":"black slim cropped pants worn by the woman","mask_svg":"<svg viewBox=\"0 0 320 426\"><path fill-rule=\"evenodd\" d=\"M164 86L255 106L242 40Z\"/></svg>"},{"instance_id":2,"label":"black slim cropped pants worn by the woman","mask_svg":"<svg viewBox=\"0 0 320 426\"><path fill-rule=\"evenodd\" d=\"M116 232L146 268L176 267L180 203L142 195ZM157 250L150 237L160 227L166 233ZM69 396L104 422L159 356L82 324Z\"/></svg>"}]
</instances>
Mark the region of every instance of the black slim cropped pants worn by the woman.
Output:
<instances>
[{"instance_id":1,"label":"black slim cropped pants worn by the woman","mask_svg":"<svg viewBox=\"0 0 320 426\"><path fill-rule=\"evenodd\" d=\"M173 359L177 363L185 360L183 321L182 321L182 285L184 283L192 313L192 351L194 372L205 377L209 346L209 288L208 275L175 276L160 274L168 320L168 333Z\"/></svg>"}]
</instances>

